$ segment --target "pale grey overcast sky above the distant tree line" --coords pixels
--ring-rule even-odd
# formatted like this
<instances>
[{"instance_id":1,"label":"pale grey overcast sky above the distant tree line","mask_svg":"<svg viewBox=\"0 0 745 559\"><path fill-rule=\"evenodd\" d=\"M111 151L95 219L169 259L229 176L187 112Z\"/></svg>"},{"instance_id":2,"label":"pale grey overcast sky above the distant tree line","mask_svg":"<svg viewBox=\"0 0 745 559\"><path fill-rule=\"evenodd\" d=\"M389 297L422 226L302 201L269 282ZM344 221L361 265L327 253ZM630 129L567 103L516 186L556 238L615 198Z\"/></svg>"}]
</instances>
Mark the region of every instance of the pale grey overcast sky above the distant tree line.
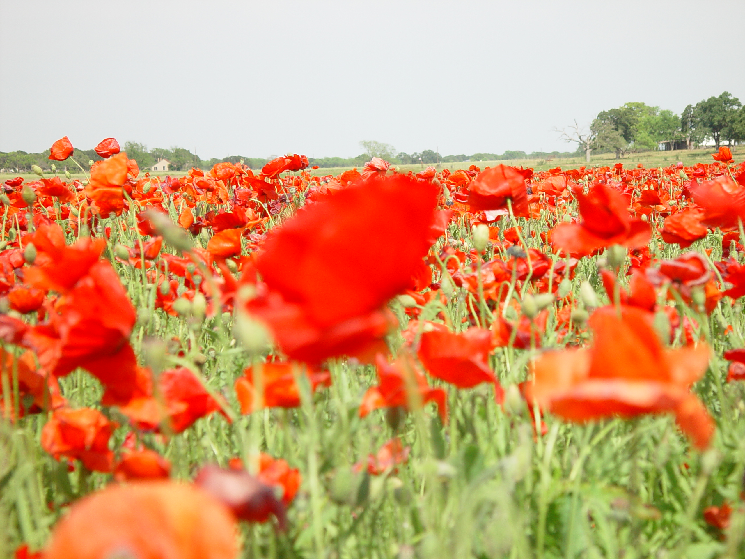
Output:
<instances>
[{"instance_id":1,"label":"pale grey overcast sky above the distant tree line","mask_svg":"<svg viewBox=\"0 0 745 559\"><path fill-rule=\"evenodd\" d=\"M644 101L745 101L744 0L0 0L0 151L574 150Z\"/></svg>"}]
</instances>

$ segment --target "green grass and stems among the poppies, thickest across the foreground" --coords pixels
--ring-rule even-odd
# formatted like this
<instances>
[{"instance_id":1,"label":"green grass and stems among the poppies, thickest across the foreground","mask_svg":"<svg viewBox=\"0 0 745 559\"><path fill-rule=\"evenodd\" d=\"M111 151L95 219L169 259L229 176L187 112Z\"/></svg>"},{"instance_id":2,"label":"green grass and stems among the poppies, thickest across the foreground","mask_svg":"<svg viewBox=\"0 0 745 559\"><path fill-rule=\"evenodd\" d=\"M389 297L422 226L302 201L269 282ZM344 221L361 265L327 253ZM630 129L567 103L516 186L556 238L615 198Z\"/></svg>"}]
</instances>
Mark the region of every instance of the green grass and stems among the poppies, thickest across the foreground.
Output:
<instances>
[{"instance_id":1,"label":"green grass and stems among the poppies, thickest across the foreground","mask_svg":"<svg viewBox=\"0 0 745 559\"><path fill-rule=\"evenodd\" d=\"M708 153L639 154L623 162L653 160L667 165L683 159L690 165L710 160ZM602 156L593 160L595 165L614 162ZM542 165L571 166L567 160ZM177 212L175 206L168 209L171 215ZM288 218L289 211L282 218ZM136 212L122 219L127 233L115 233L111 247L136 245ZM103 221L105 226L110 220ZM527 226L524 220L522 225ZM530 225L537 230L548 226L545 218ZM463 221L452 223L449 233L471 246ZM202 246L205 240L194 238ZM527 242L542 248L536 239L527 237ZM721 258L717 233L694 245L700 252L706 248L713 250L712 259ZM169 247L165 250L175 253ZM677 247L666 245L661 256L679 253ZM603 293L597 260L580 262L572 282L574 293L586 279ZM218 313L195 323L166 315L153 309L156 285L142 271L112 263L139 311L132 337L136 353L142 356L149 338L173 341L168 365L190 363L238 410L232 385L250 357L236 344L233 316ZM468 304L469 295L462 289L448 298L446 312L452 323L460 324L468 315ZM404 310L396 302L390 306L403 326L408 320ZM553 328L557 310L552 310L542 332L542 347L559 345ZM432 384L448 391L448 424L443 426L428 407L408 414L394 431L382 411L358 417L361 397L375 384L375 372L350 361L332 362L330 388L311 397L307 385L301 387L301 408L268 409L234 423L213 414L181 435L163 439L145 434L142 440L171 460L176 479L191 479L200 464L224 466L230 458L259 449L301 470L303 484L290 508L288 533L278 534L271 525L244 525L245 558L743 557L745 511L737 504L745 469L745 390L737 382L722 389L720 382L726 373L723 350L745 345L742 306L723 302L710 316L682 306L679 310L698 321L701 327L695 335L714 350L706 378L696 387L717 421L714 448L704 455L691 449L668 416L586 425L548 416L547 434L536 436L524 406L495 404L489 386L457 390L437 381ZM422 318L432 319L439 311L435 305L425 306ZM732 325L732 332L725 333L727 325ZM189 344L192 337L196 343ZM397 332L390 344L401 343ZM183 358L175 357L178 350L185 353ZM526 378L533 354L500 348L491 358L492 368L502 384L513 389ZM88 374L73 373L61 379L61 385L73 407L99 407L101 387ZM106 413L120 423L113 438L113 448L118 449L130 428L115 410ZM69 473L66 464L46 455L39 447L45 420L46 415L39 414L0 423L0 557L10 556L21 542L38 549L65 514L63 505L110 481L101 473L88 477L80 468ZM411 447L407 464L384 476L355 473L353 464L366 461L394 435ZM703 507L723 500L736 508L728 540L720 540L720 533L702 519Z\"/></svg>"}]
</instances>

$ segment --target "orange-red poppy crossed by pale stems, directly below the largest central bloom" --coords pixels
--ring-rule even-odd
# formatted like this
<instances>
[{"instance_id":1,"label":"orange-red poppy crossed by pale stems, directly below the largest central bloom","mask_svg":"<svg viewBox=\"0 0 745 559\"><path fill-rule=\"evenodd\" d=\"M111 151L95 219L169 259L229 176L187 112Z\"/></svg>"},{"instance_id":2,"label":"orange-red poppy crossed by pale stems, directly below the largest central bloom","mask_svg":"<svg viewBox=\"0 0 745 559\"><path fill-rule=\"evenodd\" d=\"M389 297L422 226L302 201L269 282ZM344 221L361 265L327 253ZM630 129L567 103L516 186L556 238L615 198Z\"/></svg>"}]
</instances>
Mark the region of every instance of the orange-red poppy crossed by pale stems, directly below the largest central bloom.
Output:
<instances>
[{"instance_id":1,"label":"orange-red poppy crossed by pale stems, directly below the largest central bloom","mask_svg":"<svg viewBox=\"0 0 745 559\"><path fill-rule=\"evenodd\" d=\"M235 381L235 394L241 402L241 413L252 414L261 408L297 408L300 405L300 393L293 367L302 365L294 363L264 363L261 364L262 382L264 385L263 406L259 406L259 394L253 385L253 367L244 370L244 376ZM331 384L331 374L324 371L309 373L311 390L316 391L319 386Z\"/></svg>"}]
</instances>

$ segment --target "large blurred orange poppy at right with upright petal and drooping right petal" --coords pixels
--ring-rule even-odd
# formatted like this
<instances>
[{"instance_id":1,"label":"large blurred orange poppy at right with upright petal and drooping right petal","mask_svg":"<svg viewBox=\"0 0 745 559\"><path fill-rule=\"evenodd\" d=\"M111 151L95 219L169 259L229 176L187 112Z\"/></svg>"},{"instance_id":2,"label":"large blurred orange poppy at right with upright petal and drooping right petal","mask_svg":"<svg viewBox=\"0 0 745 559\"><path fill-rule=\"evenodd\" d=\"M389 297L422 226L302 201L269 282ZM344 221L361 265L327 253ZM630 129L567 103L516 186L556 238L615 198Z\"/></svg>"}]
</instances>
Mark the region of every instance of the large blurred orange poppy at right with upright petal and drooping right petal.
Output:
<instances>
[{"instance_id":1,"label":"large blurred orange poppy at right with upright petal and drooping right petal","mask_svg":"<svg viewBox=\"0 0 745 559\"><path fill-rule=\"evenodd\" d=\"M616 313L613 306L593 313L593 347L536 359L527 401L572 421L673 412L694 445L706 448L714 422L690 387L706 372L708 347L665 350L650 313L628 306L621 318Z\"/></svg>"}]
</instances>

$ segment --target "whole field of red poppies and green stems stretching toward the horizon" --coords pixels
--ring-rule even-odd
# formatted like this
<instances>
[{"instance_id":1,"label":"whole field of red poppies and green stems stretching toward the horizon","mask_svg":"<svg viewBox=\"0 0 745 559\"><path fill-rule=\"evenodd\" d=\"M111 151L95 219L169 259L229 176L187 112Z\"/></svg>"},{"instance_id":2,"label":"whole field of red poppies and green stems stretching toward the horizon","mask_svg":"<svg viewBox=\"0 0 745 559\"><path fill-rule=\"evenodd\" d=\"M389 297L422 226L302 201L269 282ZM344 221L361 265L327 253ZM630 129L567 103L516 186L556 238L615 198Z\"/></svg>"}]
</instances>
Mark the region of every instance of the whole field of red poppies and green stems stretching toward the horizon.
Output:
<instances>
[{"instance_id":1,"label":"whole field of red poppies and green stems stretching toward the horizon","mask_svg":"<svg viewBox=\"0 0 745 559\"><path fill-rule=\"evenodd\" d=\"M84 180L0 191L0 557L745 556L729 148L183 177L96 152L60 139Z\"/></svg>"}]
</instances>

